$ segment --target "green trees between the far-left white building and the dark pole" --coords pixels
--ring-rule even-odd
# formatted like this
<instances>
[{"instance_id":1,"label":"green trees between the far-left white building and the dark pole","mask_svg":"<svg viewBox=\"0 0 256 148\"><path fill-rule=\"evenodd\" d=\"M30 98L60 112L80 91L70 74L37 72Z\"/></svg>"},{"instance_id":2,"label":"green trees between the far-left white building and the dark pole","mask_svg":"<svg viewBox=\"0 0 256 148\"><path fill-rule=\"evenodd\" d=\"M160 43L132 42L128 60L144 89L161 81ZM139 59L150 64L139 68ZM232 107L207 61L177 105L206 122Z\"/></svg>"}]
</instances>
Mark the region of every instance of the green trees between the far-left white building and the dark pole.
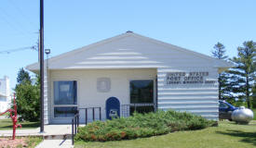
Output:
<instances>
[{"instance_id":1,"label":"green trees between the far-left white building and the dark pole","mask_svg":"<svg viewBox=\"0 0 256 148\"><path fill-rule=\"evenodd\" d=\"M33 84L27 71L20 68L15 87L17 112L20 119L37 121L40 117L40 83L38 76Z\"/></svg>"}]
</instances>

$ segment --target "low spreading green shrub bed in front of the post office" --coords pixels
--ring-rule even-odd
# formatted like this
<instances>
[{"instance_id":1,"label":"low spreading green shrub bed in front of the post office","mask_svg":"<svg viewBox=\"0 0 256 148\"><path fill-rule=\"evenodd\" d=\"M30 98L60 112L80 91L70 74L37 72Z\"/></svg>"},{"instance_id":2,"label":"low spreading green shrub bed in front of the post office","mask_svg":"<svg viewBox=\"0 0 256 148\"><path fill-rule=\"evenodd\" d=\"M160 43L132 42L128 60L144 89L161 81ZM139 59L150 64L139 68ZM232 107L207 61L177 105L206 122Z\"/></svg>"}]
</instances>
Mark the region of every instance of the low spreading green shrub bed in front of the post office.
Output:
<instances>
[{"instance_id":1,"label":"low spreading green shrub bed in front of the post office","mask_svg":"<svg viewBox=\"0 0 256 148\"><path fill-rule=\"evenodd\" d=\"M166 134L170 131L204 129L215 122L189 113L169 110L156 113L134 113L132 117L95 121L79 127L76 141L106 142L130 140Z\"/></svg>"}]
</instances>

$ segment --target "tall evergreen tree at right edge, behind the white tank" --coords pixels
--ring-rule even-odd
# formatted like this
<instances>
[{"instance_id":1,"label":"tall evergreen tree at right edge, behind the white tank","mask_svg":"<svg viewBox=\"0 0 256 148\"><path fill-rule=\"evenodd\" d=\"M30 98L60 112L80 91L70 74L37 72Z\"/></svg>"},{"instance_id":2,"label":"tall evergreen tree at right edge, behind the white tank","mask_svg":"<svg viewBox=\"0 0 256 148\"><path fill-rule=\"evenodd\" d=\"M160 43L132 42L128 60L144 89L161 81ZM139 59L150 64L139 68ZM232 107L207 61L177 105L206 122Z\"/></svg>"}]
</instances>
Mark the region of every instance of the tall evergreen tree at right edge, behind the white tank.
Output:
<instances>
[{"instance_id":1,"label":"tall evergreen tree at right edge, behind the white tank","mask_svg":"<svg viewBox=\"0 0 256 148\"><path fill-rule=\"evenodd\" d=\"M243 46L237 48L238 56L233 57L232 61L236 65L230 68L230 91L234 97L240 101L246 101L248 107L251 107L252 86L255 80L255 58L256 43L253 41L244 42Z\"/></svg>"}]
</instances>

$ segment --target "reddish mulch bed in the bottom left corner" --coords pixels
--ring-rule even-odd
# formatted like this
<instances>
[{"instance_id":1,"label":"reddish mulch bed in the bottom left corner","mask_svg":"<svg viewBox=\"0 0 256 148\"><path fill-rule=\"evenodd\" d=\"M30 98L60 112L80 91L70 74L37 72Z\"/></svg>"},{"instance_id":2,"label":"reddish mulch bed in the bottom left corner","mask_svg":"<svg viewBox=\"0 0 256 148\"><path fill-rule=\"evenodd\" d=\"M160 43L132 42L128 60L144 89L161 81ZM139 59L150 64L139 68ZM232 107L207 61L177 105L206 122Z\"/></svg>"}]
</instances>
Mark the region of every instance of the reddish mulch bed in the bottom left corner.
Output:
<instances>
[{"instance_id":1,"label":"reddish mulch bed in the bottom left corner","mask_svg":"<svg viewBox=\"0 0 256 148\"><path fill-rule=\"evenodd\" d=\"M12 140L11 138L0 138L0 148L16 148L16 147L27 147L26 138L16 138Z\"/></svg>"}]
</instances>

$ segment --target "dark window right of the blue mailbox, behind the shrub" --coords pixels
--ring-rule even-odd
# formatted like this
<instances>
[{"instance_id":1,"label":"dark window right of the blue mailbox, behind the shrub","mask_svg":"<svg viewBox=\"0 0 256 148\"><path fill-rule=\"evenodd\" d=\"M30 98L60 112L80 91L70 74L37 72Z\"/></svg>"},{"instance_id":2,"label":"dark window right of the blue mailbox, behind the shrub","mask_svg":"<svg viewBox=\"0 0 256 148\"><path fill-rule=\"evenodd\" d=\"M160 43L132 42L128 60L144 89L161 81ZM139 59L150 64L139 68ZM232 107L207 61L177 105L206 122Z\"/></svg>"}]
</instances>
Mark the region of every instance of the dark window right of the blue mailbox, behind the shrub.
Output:
<instances>
[{"instance_id":1,"label":"dark window right of the blue mailbox, behind the shrub","mask_svg":"<svg viewBox=\"0 0 256 148\"><path fill-rule=\"evenodd\" d=\"M154 111L154 80L130 80L130 115L136 110L139 113Z\"/></svg>"}]
</instances>

